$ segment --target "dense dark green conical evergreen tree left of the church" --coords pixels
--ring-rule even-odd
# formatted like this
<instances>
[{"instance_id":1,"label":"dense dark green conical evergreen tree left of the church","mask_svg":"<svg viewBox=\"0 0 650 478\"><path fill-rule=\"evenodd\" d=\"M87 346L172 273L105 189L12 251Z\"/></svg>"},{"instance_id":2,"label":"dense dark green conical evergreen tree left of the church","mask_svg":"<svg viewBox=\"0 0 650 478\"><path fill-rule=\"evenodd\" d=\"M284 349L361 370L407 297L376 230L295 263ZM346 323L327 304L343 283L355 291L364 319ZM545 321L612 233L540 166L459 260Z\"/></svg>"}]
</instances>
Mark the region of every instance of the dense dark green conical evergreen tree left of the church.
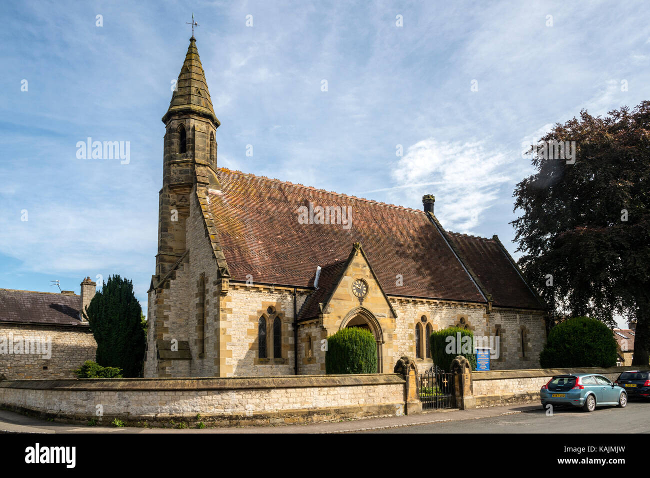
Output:
<instances>
[{"instance_id":1,"label":"dense dark green conical evergreen tree left of the church","mask_svg":"<svg viewBox=\"0 0 650 478\"><path fill-rule=\"evenodd\" d=\"M133 283L112 275L102 285L84 311L97 342L96 362L121 368L124 377L141 377L146 338Z\"/></svg>"}]
</instances>

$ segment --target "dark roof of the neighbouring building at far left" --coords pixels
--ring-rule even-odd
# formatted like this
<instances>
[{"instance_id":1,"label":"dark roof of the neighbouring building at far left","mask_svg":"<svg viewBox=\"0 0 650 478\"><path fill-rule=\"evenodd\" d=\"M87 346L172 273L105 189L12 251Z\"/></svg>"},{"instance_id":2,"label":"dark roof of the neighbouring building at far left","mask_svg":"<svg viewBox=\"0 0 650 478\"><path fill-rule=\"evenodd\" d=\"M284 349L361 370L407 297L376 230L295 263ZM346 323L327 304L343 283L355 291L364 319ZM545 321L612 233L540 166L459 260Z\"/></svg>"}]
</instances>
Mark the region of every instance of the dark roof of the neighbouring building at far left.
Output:
<instances>
[{"instance_id":1,"label":"dark roof of the neighbouring building at far left","mask_svg":"<svg viewBox=\"0 0 650 478\"><path fill-rule=\"evenodd\" d=\"M28 290L0 289L0 321L81 325L81 297Z\"/></svg>"}]
</instances>

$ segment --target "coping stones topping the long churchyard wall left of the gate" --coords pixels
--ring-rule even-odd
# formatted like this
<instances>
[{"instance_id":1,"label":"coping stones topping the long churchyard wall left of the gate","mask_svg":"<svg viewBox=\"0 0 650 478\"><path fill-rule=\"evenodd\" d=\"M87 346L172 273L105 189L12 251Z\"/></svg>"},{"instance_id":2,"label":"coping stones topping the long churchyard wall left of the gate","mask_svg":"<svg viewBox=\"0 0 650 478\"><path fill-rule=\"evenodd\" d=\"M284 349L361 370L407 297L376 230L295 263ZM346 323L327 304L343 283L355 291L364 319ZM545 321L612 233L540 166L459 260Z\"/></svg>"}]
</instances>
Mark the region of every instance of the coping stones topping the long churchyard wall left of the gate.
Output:
<instances>
[{"instance_id":1,"label":"coping stones topping the long churchyard wall left of the gate","mask_svg":"<svg viewBox=\"0 0 650 478\"><path fill-rule=\"evenodd\" d=\"M0 381L0 388L74 391L241 390L404 384L395 373L269 375L264 377L168 377L148 379L27 379Z\"/></svg>"}]
</instances>

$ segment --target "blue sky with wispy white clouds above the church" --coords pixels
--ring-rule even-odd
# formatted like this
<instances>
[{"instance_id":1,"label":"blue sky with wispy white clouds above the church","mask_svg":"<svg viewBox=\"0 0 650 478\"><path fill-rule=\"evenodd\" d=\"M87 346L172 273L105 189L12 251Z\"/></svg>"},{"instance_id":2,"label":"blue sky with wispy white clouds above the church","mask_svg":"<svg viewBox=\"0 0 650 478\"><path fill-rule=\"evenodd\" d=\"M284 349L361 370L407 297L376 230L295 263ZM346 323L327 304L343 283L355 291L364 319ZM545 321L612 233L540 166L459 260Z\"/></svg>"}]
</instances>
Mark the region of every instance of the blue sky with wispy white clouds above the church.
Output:
<instances>
[{"instance_id":1,"label":"blue sky with wispy white clouds above the church","mask_svg":"<svg viewBox=\"0 0 650 478\"><path fill-rule=\"evenodd\" d=\"M434 194L445 229L515 258L523 145L650 98L647 1L3 1L0 288L120 274L146 311L192 14L218 166L411 208ZM88 137L129 161L78 158Z\"/></svg>"}]
</instances>

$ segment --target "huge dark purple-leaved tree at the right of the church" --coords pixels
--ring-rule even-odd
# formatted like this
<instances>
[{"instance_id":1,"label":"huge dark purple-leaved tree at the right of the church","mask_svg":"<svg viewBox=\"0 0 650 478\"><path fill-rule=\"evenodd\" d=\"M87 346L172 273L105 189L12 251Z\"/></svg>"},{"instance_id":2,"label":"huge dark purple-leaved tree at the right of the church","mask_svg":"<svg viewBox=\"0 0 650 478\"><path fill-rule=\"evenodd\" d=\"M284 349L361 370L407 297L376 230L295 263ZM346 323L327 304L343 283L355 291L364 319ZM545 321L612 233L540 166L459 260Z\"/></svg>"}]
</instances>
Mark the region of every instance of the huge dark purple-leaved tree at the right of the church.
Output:
<instances>
[{"instance_id":1,"label":"huge dark purple-leaved tree at the right of the church","mask_svg":"<svg viewBox=\"0 0 650 478\"><path fill-rule=\"evenodd\" d=\"M650 349L650 101L557 123L543 142L575 142L575 164L533 155L517 184L519 265L552 318L636 320L633 364ZM548 143L547 143L548 144ZM569 162L571 162L569 160ZM552 275L552 279L551 276Z\"/></svg>"}]
</instances>

